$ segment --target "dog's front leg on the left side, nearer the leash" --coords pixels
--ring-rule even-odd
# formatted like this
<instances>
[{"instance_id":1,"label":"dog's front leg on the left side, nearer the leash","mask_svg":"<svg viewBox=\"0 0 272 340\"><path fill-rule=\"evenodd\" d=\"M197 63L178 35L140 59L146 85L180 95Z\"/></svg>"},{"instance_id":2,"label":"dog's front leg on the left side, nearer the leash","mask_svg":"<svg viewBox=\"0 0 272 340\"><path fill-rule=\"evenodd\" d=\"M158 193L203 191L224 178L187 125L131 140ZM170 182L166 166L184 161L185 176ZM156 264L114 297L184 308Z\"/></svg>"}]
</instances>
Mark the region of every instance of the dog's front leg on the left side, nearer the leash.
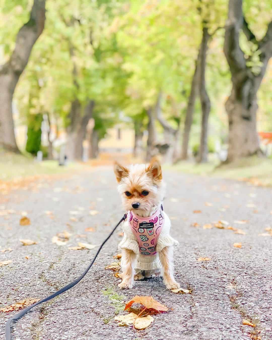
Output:
<instances>
[{"instance_id":1,"label":"dog's front leg on the left side, nearer the leash","mask_svg":"<svg viewBox=\"0 0 272 340\"><path fill-rule=\"evenodd\" d=\"M118 285L119 288L132 288L134 286L134 263L136 254L129 249L123 249L121 268L123 271L122 282Z\"/></svg>"}]
</instances>

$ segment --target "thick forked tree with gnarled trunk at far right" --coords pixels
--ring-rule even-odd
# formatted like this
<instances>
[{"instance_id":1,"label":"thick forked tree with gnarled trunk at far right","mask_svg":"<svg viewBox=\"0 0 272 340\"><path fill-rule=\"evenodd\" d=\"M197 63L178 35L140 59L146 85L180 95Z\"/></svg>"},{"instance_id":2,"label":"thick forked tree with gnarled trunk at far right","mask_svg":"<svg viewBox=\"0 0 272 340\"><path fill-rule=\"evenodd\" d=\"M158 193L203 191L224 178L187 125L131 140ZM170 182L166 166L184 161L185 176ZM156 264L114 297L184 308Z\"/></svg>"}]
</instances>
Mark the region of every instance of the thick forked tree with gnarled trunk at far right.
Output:
<instances>
[{"instance_id":1,"label":"thick forked tree with gnarled trunk at far right","mask_svg":"<svg viewBox=\"0 0 272 340\"><path fill-rule=\"evenodd\" d=\"M242 2L229 1L225 28L224 53L232 79L231 95L225 104L229 119L228 162L260 152L256 126L257 91L272 56L272 21L264 37L258 40L244 17ZM241 48L241 30L247 40L256 46L251 57L247 55L246 58Z\"/></svg>"}]
</instances>

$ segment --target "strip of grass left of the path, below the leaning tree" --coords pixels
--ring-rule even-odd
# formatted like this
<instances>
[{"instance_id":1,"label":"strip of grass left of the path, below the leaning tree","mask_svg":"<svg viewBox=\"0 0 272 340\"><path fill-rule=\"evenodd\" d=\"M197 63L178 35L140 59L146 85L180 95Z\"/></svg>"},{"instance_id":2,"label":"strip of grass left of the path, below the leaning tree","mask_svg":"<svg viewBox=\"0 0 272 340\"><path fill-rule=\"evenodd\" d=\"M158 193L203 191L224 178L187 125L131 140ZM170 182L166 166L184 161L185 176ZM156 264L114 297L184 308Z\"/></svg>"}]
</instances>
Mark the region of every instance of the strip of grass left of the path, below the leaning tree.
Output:
<instances>
[{"instance_id":1,"label":"strip of grass left of the path, below the leaning tree","mask_svg":"<svg viewBox=\"0 0 272 340\"><path fill-rule=\"evenodd\" d=\"M68 173L83 168L83 164L69 163L60 167L57 160L35 162L32 156L14 154L0 150L0 181L11 181L34 175Z\"/></svg>"}]
</instances>

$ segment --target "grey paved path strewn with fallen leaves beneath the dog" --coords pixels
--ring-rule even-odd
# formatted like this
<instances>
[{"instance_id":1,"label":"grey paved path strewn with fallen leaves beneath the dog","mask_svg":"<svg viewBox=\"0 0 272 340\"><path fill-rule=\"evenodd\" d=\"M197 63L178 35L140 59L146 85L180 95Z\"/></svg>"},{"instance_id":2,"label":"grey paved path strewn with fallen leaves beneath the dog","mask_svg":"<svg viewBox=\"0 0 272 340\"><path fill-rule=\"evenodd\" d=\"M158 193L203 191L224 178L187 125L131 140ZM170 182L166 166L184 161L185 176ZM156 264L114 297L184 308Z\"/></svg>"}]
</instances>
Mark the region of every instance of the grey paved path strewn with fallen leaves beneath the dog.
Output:
<instances>
[{"instance_id":1,"label":"grey paved path strewn with fallen leaves beneath the dog","mask_svg":"<svg viewBox=\"0 0 272 340\"><path fill-rule=\"evenodd\" d=\"M13 339L272 339L272 237L258 236L272 227L271 189L171 171L164 175L168 183L164 209L172 219L172 235L180 242L175 276L193 293L173 294L161 279L137 282L135 288L120 291L118 279L104 269L117 251L120 236L116 232L89 274L72 290L24 316L13 327ZM101 243L123 214L109 168L39 182L30 190L12 191L0 199L1 249L13 249L0 253L0 261L12 260L0 267L0 306L26 297L42 298L71 282L87 267L95 249L72 251L68 246L78 241ZM16 213L5 216L10 209ZM90 209L99 214L89 215ZM46 210L53 216L45 214ZM19 225L22 211L28 212L31 225ZM247 234L203 229L204 224L218 220ZM248 222L234 223L241 220ZM85 232L86 227L95 232ZM52 237L64 230L72 234L69 242L53 244ZM87 238L78 237L81 234ZM38 244L22 246L19 239ZM234 248L235 242L241 242L242 248ZM211 260L200 262L199 257ZM142 331L119 327L113 321L115 311L122 307L122 300L134 295L152 295L171 310L155 316L153 324ZM0 313L1 339L11 315ZM243 325L243 319L257 326Z\"/></svg>"}]
</instances>

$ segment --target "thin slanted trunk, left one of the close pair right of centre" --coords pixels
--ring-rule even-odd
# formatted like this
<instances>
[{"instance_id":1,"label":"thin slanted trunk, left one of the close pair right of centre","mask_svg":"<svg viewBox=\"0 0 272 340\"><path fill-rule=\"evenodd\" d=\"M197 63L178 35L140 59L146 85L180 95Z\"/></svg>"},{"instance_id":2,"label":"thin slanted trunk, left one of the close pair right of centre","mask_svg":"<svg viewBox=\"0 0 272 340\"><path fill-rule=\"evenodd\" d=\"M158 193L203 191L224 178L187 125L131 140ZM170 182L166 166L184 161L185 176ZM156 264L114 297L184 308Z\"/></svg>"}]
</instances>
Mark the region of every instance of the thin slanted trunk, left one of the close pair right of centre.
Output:
<instances>
[{"instance_id":1,"label":"thin slanted trunk, left one of the close pair right of centre","mask_svg":"<svg viewBox=\"0 0 272 340\"><path fill-rule=\"evenodd\" d=\"M182 138L182 150L181 150L181 159L188 158L188 145L189 145L189 137L191 132L191 127L193 123L193 114L195 109L195 102L198 92L198 81L199 81L199 59L200 53L198 53L197 61L195 63L195 72L192 79L191 91L188 99L187 109L186 109L186 118L184 124L183 138Z\"/></svg>"}]
</instances>

